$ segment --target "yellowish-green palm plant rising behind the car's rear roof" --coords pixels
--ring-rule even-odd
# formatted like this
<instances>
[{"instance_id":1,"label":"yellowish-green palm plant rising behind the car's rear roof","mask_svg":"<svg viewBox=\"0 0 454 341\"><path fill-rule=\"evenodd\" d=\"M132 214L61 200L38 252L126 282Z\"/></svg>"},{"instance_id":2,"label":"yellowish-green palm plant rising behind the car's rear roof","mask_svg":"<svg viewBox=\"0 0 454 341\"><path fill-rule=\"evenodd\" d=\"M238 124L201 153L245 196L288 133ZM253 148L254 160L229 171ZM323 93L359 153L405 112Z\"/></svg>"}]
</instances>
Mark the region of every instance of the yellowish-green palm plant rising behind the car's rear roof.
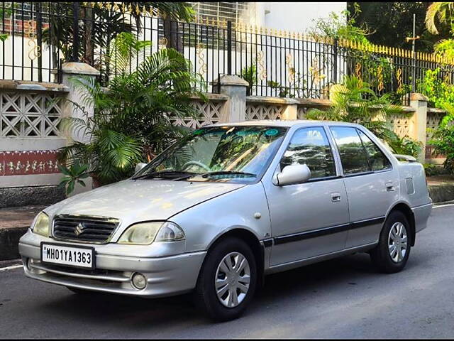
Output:
<instances>
[{"instance_id":1,"label":"yellowish-green palm plant rising behind the car's rear roof","mask_svg":"<svg viewBox=\"0 0 454 341\"><path fill-rule=\"evenodd\" d=\"M327 110L311 109L306 117L362 124L389 143L397 140L392 124L387 121L395 114L404 115L404 112L399 105L391 104L388 94L378 97L369 84L347 75L341 90L334 94L331 107Z\"/></svg>"}]
</instances>

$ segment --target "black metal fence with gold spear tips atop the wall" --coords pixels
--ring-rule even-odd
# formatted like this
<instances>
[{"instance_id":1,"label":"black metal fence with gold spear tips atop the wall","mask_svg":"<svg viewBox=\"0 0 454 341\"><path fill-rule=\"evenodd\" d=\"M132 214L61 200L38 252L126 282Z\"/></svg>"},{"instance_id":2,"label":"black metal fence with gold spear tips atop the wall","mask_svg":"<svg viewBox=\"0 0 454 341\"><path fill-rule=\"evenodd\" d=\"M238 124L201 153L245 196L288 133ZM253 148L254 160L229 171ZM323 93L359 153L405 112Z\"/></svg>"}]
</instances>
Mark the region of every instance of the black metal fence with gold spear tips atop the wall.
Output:
<instances>
[{"instance_id":1,"label":"black metal fence with gold spear tips atop the wall","mask_svg":"<svg viewBox=\"0 0 454 341\"><path fill-rule=\"evenodd\" d=\"M240 75L258 96L327 98L344 75L368 82L395 102L417 90L427 70L453 82L454 63L433 55L350 41L309 37L231 22L163 20L147 6L116 3L3 2L0 5L0 79L60 82L60 65L80 61L101 72L108 85L118 75L113 42L131 32L144 44L128 68L162 48L191 60L208 92L221 75ZM141 3L143 4L143 3Z\"/></svg>"}]
</instances>

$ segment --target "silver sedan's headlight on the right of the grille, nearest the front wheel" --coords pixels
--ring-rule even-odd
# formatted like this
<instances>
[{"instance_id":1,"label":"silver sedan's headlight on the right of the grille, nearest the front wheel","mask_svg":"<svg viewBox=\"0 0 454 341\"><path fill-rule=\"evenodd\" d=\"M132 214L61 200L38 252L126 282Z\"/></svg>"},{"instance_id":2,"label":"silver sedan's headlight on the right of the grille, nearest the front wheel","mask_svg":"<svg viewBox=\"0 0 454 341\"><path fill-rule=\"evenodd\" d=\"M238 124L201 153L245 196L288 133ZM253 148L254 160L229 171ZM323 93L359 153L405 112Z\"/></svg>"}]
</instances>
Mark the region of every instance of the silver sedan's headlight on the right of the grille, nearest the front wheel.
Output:
<instances>
[{"instance_id":1,"label":"silver sedan's headlight on the right of the grille, nearest the front wheel","mask_svg":"<svg viewBox=\"0 0 454 341\"><path fill-rule=\"evenodd\" d=\"M140 222L128 227L117 243L148 245L153 242L175 242L183 239L183 230L173 222Z\"/></svg>"}]
</instances>

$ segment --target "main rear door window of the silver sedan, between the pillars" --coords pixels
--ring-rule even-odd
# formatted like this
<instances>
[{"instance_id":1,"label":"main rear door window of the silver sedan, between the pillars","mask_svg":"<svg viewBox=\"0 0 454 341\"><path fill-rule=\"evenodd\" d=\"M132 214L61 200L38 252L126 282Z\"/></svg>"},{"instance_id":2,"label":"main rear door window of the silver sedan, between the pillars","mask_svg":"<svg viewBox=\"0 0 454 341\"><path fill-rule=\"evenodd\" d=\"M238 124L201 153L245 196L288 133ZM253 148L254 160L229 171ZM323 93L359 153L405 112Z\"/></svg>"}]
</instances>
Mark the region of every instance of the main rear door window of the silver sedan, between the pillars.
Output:
<instances>
[{"instance_id":1,"label":"main rear door window of the silver sedan, between the pillars","mask_svg":"<svg viewBox=\"0 0 454 341\"><path fill-rule=\"evenodd\" d=\"M334 141L341 156L343 173L351 175L370 171L367 153L355 128L332 126Z\"/></svg>"}]
</instances>

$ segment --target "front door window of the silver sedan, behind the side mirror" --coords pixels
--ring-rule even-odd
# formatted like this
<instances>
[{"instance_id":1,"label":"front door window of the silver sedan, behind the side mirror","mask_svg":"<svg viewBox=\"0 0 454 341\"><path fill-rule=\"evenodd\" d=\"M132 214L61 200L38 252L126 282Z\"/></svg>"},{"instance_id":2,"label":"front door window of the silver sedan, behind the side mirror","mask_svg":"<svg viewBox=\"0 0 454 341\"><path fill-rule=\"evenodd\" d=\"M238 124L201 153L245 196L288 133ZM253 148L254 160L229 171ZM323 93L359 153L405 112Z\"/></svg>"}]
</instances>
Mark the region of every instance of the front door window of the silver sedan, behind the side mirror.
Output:
<instances>
[{"instance_id":1,"label":"front door window of the silver sedan, behind the side mirror","mask_svg":"<svg viewBox=\"0 0 454 341\"><path fill-rule=\"evenodd\" d=\"M281 170L294 164L306 164L311 170L311 179L336 175L333 152L322 127L301 128L295 131L282 156Z\"/></svg>"}]
</instances>

